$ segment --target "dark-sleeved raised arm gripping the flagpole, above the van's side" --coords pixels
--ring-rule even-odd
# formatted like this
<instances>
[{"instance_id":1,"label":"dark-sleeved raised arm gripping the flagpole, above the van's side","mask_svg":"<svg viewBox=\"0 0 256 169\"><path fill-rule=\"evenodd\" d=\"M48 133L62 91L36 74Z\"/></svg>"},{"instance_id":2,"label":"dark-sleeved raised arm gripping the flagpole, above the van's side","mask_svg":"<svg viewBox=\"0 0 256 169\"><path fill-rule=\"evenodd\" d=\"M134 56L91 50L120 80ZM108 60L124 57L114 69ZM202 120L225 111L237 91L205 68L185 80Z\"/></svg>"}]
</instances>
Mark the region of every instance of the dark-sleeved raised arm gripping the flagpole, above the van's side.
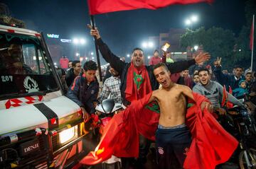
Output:
<instances>
[{"instance_id":1,"label":"dark-sleeved raised arm gripping the flagpole, above the van's side","mask_svg":"<svg viewBox=\"0 0 256 169\"><path fill-rule=\"evenodd\" d=\"M94 37L96 37L96 43L99 46L100 53L102 54L102 57L105 59L107 63L110 63L110 65L119 72L119 74L122 74L122 71L124 69L125 63L120 60L119 57L114 55L110 48L102 41L100 37L99 30L97 28L92 29L91 25L88 25L88 27L91 29L90 34Z\"/></svg>"}]
</instances>

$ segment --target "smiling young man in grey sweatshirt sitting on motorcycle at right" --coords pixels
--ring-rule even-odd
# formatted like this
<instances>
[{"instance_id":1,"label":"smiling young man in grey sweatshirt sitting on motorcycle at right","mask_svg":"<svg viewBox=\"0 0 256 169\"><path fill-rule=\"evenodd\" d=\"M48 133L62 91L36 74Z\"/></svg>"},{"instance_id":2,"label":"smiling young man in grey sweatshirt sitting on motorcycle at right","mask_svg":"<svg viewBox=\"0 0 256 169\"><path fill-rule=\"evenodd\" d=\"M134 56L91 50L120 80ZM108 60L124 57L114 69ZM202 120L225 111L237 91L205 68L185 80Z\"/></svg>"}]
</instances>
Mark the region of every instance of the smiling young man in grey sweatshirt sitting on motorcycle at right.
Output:
<instances>
[{"instance_id":1,"label":"smiling young man in grey sweatshirt sitting on motorcycle at right","mask_svg":"<svg viewBox=\"0 0 256 169\"><path fill-rule=\"evenodd\" d=\"M224 115L226 111L220 106L223 98L223 86L216 81L210 81L210 71L206 68L199 69L198 74L200 83L193 87L193 92L205 95L210 100L210 103L213 104L213 110L219 112L220 115ZM230 93L228 93L228 100L234 105L244 106Z\"/></svg>"}]
</instances>

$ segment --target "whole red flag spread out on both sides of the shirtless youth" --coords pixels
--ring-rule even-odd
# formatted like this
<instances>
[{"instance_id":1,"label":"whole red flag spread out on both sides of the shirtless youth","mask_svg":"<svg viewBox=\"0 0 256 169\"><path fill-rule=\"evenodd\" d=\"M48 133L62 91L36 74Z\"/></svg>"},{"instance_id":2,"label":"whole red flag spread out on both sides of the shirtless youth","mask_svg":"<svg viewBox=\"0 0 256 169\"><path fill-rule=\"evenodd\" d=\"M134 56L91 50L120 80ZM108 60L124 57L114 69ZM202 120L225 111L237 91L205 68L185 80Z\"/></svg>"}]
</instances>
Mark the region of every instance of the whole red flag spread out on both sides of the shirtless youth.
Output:
<instances>
[{"instance_id":1,"label":"whole red flag spread out on both sides of the shirtless youth","mask_svg":"<svg viewBox=\"0 0 256 169\"><path fill-rule=\"evenodd\" d=\"M139 134L142 134L142 129L139 128L138 124L146 124L150 118L144 117L154 115L154 120L151 120L154 125L144 126L144 129L151 127L151 132L144 132L143 134L146 138L154 138L159 120L159 114L155 112L150 111L151 114L149 114L140 111L144 110L142 107L146 105L150 96L151 93L141 100L132 102L132 105L124 112L114 115L102 135L100 144L80 163L95 165L107 160L112 154L118 157L137 157L139 154ZM214 169L215 165L228 161L238 146L238 141L220 126L208 110L201 111L201 103L208 101L205 97L196 93L193 93L193 97L196 104L188 108L186 114L186 125L191 131L193 141L183 168ZM193 101L190 100L190 102Z\"/></svg>"}]
</instances>

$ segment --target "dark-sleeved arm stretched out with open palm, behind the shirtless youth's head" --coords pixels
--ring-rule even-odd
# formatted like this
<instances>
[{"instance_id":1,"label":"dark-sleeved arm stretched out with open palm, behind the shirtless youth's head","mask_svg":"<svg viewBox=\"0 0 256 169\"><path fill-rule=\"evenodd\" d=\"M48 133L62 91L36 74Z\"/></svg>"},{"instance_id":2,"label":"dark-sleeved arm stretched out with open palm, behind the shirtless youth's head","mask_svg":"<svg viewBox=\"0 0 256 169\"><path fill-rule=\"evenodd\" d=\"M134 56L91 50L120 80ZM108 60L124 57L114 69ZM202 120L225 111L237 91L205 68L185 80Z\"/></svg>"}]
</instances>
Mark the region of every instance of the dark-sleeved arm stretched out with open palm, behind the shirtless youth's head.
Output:
<instances>
[{"instance_id":1,"label":"dark-sleeved arm stretched out with open palm, behind the shirtless youth's head","mask_svg":"<svg viewBox=\"0 0 256 169\"><path fill-rule=\"evenodd\" d=\"M185 69L188 69L188 67L192 66L193 64L206 62L208 61L208 59L210 59L210 54L200 53L195 57L195 59L191 59L188 61L174 62L171 64L166 64L166 66L168 67L169 71L171 71L171 74L174 74L174 73L181 72Z\"/></svg>"}]
</instances>

